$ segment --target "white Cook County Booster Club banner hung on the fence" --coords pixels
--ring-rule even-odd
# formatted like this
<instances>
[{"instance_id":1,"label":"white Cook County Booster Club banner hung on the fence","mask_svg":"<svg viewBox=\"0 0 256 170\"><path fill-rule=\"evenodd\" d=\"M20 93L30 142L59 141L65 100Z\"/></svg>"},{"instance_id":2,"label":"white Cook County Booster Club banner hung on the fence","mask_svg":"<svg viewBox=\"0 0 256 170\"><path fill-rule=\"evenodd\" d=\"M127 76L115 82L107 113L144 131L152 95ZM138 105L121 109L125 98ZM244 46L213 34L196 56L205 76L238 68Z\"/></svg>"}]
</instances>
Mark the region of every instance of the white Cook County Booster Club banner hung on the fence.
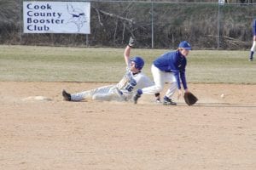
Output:
<instances>
[{"instance_id":1,"label":"white Cook County Booster Club banner hung on the fence","mask_svg":"<svg viewBox=\"0 0 256 170\"><path fill-rule=\"evenodd\" d=\"M23 2L24 33L90 34L90 3Z\"/></svg>"}]
</instances>

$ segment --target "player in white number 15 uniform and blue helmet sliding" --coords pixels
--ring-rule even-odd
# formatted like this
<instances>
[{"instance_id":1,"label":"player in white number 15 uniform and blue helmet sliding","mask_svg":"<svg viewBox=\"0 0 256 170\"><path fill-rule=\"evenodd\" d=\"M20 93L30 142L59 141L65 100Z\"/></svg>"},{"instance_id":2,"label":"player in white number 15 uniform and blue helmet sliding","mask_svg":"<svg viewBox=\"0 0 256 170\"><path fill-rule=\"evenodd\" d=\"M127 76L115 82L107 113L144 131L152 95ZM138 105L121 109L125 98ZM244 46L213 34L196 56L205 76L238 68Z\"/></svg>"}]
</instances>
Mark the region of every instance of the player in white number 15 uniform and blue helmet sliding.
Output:
<instances>
[{"instance_id":1,"label":"player in white number 15 uniform and blue helmet sliding","mask_svg":"<svg viewBox=\"0 0 256 170\"><path fill-rule=\"evenodd\" d=\"M125 76L118 84L95 88L78 94L68 94L62 91L62 96L67 101L81 101L86 99L95 100L116 100L128 101L132 99L133 92L139 88L145 88L154 85L143 72L144 60L142 57L135 56L130 59L131 47L134 46L133 38L130 38L129 45L125 48L125 63L127 65Z\"/></svg>"}]
</instances>

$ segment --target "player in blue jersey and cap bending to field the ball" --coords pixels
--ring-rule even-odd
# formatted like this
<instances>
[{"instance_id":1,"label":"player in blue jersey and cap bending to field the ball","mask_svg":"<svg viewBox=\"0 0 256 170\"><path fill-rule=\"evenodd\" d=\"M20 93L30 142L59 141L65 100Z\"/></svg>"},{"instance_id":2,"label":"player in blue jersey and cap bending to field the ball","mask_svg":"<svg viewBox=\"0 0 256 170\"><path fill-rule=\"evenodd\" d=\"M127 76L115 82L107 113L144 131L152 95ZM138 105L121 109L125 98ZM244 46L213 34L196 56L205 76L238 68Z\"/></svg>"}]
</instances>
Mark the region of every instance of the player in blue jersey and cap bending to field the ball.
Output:
<instances>
[{"instance_id":1,"label":"player in blue jersey and cap bending to field the ball","mask_svg":"<svg viewBox=\"0 0 256 170\"><path fill-rule=\"evenodd\" d=\"M183 83L185 92L189 92L185 77L185 67L187 65L187 55L191 46L189 42L183 41L179 43L176 51L162 54L155 59L151 66L152 75L154 77L154 85L148 88L139 88L137 94L133 97L134 104L142 94L157 94L164 88L165 82L170 82L171 86L167 90L163 100L163 105L177 105L172 101L172 95L178 88L178 97L182 94L180 79Z\"/></svg>"}]
</instances>

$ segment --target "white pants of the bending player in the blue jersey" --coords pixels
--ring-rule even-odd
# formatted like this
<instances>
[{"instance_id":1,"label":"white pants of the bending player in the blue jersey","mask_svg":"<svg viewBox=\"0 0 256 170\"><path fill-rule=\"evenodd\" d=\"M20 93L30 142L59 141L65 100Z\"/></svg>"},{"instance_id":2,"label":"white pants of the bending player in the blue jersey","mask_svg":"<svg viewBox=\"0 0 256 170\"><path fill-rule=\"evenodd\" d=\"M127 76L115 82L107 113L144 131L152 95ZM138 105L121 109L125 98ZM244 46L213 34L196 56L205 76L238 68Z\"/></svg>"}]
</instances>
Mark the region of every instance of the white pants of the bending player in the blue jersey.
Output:
<instances>
[{"instance_id":1,"label":"white pants of the bending player in the blue jersey","mask_svg":"<svg viewBox=\"0 0 256 170\"><path fill-rule=\"evenodd\" d=\"M156 94L165 87L165 82L171 83L170 88L166 92L166 97L172 98L177 90L177 80L172 72L160 71L156 66L151 66L151 72L154 78L154 86L143 88L143 94Z\"/></svg>"}]
</instances>

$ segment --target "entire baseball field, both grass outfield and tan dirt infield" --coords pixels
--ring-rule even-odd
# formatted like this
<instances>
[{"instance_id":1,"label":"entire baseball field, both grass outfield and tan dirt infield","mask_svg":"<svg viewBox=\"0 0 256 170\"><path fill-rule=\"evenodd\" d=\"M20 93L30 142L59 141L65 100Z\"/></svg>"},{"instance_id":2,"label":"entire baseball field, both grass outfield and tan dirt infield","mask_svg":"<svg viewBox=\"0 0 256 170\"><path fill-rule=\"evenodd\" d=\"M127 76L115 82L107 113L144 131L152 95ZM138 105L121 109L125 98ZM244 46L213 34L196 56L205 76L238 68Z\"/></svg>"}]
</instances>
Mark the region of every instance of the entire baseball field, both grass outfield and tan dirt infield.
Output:
<instances>
[{"instance_id":1,"label":"entire baseball field, both grass outfield and tan dirt infield","mask_svg":"<svg viewBox=\"0 0 256 170\"><path fill-rule=\"evenodd\" d=\"M143 56L152 78L151 62L166 51L131 55ZM190 52L193 106L156 104L151 95L137 105L63 101L62 89L118 82L123 52L0 46L0 169L256 169L256 63L247 51Z\"/></svg>"}]
</instances>

